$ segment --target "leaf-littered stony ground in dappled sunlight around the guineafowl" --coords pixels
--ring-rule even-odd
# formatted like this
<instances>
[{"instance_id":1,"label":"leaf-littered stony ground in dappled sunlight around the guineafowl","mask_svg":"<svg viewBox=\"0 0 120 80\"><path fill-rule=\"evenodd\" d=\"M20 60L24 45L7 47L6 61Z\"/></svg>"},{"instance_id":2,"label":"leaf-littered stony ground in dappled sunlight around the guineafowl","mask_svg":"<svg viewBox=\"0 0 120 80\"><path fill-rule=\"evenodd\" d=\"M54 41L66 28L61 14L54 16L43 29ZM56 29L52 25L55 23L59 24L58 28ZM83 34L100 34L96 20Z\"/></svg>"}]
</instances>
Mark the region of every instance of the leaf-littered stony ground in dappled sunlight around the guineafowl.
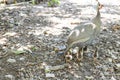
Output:
<instances>
[{"instance_id":1,"label":"leaf-littered stony ground in dappled sunlight around the guineafowl","mask_svg":"<svg viewBox=\"0 0 120 80\"><path fill-rule=\"evenodd\" d=\"M119 80L120 5L104 5L100 12L99 64L91 52L66 64L59 50L71 29L95 16L92 5L62 0L58 7L0 7L0 80Z\"/></svg>"}]
</instances>

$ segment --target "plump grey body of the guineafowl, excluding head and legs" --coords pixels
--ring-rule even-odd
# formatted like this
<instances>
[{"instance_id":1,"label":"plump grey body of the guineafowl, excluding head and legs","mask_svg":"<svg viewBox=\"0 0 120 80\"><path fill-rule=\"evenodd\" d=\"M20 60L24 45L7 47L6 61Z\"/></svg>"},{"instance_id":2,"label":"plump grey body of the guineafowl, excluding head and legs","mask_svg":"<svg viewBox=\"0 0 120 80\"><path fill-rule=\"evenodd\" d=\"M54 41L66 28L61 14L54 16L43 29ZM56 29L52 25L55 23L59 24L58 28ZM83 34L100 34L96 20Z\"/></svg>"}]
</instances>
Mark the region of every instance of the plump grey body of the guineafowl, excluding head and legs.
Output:
<instances>
[{"instance_id":1,"label":"plump grey body of the guineafowl, excluding head and legs","mask_svg":"<svg viewBox=\"0 0 120 80\"><path fill-rule=\"evenodd\" d=\"M77 43L81 44L81 47L91 44L101 30L101 20L99 18L95 17L91 22L86 22L75 27L67 38L67 50Z\"/></svg>"}]
</instances>

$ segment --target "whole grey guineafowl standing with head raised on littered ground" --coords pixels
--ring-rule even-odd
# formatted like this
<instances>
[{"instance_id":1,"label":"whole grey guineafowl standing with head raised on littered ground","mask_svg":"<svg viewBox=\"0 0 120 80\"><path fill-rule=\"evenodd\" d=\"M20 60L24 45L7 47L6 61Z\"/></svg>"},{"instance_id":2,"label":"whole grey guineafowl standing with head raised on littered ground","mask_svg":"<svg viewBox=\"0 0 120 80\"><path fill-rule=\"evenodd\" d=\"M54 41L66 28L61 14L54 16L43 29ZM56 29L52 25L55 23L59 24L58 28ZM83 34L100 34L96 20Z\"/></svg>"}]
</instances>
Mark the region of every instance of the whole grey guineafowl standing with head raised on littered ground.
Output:
<instances>
[{"instance_id":1,"label":"whole grey guineafowl standing with head raised on littered ground","mask_svg":"<svg viewBox=\"0 0 120 80\"><path fill-rule=\"evenodd\" d=\"M97 1L97 6L96 6L96 11L97 14L96 16L90 21L86 22L83 24L78 25L75 27L71 33L69 34L67 38L67 49L65 51L65 60L69 60L72 57L69 57L69 49L76 44L79 44L80 47L80 53L77 54L77 59L80 61L83 58L83 49L84 47L91 45L92 41L98 36L101 30L101 19L100 19L100 12L99 10L103 7L98 0ZM97 55L97 47L96 47L96 52L94 53L94 57ZM81 56L81 58L79 58Z\"/></svg>"}]
</instances>

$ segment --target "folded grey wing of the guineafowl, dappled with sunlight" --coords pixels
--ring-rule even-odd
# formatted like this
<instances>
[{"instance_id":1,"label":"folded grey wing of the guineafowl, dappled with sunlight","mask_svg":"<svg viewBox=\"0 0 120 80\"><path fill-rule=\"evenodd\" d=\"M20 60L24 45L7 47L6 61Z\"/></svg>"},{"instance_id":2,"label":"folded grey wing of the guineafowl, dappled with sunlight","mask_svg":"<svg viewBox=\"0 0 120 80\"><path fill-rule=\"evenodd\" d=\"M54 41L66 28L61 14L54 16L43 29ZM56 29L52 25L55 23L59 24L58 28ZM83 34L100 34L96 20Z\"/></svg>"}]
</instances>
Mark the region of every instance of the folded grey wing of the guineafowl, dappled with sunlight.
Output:
<instances>
[{"instance_id":1,"label":"folded grey wing of the guineafowl, dappled with sunlight","mask_svg":"<svg viewBox=\"0 0 120 80\"><path fill-rule=\"evenodd\" d=\"M89 39L91 39L91 37L94 36L95 28L96 25L93 23L85 23L75 27L68 36L67 43L71 44L88 41Z\"/></svg>"}]
</instances>

